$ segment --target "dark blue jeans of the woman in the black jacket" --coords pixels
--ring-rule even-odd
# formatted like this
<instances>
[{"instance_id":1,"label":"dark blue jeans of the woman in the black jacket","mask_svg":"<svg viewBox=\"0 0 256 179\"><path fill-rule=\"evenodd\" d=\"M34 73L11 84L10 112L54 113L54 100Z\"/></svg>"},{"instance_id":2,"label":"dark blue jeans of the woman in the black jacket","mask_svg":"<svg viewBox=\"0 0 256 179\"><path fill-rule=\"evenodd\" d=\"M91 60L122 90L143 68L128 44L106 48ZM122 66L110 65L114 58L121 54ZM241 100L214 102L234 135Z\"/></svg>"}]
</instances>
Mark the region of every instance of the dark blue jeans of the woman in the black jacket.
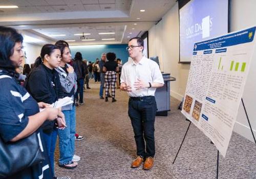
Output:
<instances>
[{"instance_id":1,"label":"dark blue jeans of the woman in the black jacket","mask_svg":"<svg viewBox=\"0 0 256 179\"><path fill-rule=\"evenodd\" d=\"M51 170L54 175L54 151L57 140L57 128L54 128L53 131L50 133L42 132L42 135L44 136L44 141L50 160Z\"/></svg>"}]
</instances>

